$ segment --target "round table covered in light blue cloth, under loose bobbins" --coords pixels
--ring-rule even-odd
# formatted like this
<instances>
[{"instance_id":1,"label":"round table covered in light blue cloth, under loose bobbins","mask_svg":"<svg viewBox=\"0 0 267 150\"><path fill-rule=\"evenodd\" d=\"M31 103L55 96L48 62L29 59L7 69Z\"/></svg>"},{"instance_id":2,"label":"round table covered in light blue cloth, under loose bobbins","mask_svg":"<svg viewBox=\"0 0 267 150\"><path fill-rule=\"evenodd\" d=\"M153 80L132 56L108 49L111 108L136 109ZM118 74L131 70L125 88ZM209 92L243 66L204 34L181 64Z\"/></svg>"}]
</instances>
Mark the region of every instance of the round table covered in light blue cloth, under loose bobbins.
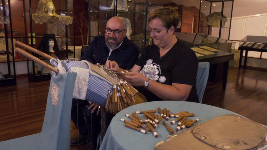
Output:
<instances>
[{"instance_id":1,"label":"round table covered in light blue cloth, under loose bobbins","mask_svg":"<svg viewBox=\"0 0 267 150\"><path fill-rule=\"evenodd\" d=\"M130 106L128 108L123 109L115 117L112 119L106 135L101 143L100 150L136 150L136 149L154 149L155 145L160 141L166 141L167 135L169 132L166 127L163 125L163 121L166 121L164 118L160 122L160 124L155 128L155 131L158 133L158 138L153 136L152 132L147 132L147 134L143 134L139 131L136 131L131 128L127 128L124 126L124 122L120 122L120 118L125 118L130 121L130 118L127 118L125 114L132 114L135 111L145 111L145 110L157 110L160 107L163 111L163 108L167 108L171 113L188 111L189 113L194 113L194 117L189 117L194 120L195 118L199 118L200 121L196 122L192 127L197 124L201 124L203 122L209 121L212 118L217 116L226 115L226 114L235 114L234 112L218 108L211 105L199 104L194 102L183 102L183 101L155 101L155 102L146 102L137 105ZM157 112L160 116L160 114ZM141 119L144 119L143 114L139 114ZM188 119L189 119L188 118ZM177 123L171 125L170 122L176 118L170 118L169 121L166 121L170 127L175 131L177 127ZM192 128L191 127L191 128ZM186 130L186 129L184 129ZM179 130L181 132L183 130ZM175 131L174 133L176 133Z\"/></svg>"}]
</instances>

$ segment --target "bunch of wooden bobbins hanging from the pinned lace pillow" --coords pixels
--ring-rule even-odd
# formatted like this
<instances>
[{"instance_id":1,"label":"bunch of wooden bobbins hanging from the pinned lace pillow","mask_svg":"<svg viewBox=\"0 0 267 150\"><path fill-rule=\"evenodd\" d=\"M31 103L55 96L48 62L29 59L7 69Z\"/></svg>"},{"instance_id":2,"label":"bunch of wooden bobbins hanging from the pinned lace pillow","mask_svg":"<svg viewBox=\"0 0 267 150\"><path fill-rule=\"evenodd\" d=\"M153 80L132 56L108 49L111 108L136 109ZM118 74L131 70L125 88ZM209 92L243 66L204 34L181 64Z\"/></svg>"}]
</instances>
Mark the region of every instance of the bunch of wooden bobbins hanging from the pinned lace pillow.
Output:
<instances>
[{"instance_id":1,"label":"bunch of wooden bobbins hanging from the pinned lace pillow","mask_svg":"<svg viewBox=\"0 0 267 150\"><path fill-rule=\"evenodd\" d=\"M129 85L127 81L123 81L123 79L118 78L118 76L110 68L106 68L104 65L99 64L97 64L97 66L118 81L117 85L113 85L113 89L108 91L105 104L107 112L117 114L124 108L129 107L132 103L135 103L135 95L138 93L137 89ZM121 73L130 75L127 70L126 72Z\"/></svg>"}]
</instances>

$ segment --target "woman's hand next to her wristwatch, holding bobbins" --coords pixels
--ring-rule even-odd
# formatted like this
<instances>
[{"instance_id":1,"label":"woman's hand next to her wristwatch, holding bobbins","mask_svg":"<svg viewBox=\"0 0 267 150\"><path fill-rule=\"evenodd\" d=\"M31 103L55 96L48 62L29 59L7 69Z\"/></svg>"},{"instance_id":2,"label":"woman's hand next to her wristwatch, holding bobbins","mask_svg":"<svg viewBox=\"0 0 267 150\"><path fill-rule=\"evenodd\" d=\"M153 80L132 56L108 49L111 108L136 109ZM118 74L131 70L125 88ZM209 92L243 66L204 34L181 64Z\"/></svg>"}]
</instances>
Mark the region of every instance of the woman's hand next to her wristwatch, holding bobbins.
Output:
<instances>
[{"instance_id":1,"label":"woman's hand next to her wristwatch, holding bobbins","mask_svg":"<svg viewBox=\"0 0 267 150\"><path fill-rule=\"evenodd\" d=\"M129 82L134 86L144 86L147 77L139 72L129 72L130 75L125 75Z\"/></svg>"}]
</instances>

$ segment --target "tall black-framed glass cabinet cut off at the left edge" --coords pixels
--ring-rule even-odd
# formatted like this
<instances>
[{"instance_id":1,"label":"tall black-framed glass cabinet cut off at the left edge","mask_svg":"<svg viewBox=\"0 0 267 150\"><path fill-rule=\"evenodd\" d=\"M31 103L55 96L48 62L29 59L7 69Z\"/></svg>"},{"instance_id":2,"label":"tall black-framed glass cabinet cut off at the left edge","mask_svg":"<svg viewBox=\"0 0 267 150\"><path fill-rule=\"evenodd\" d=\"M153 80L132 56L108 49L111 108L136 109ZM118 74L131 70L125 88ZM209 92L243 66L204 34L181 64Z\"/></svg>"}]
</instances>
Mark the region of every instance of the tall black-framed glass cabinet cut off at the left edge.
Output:
<instances>
[{"instance_id":1,"label":"tall black-framed glass cabinet cut off at the left edge","mask_svg":"<svg viewBox=\"0 0 267 150\"><path fill-rule=\"evenodd\" d=\"M15 53L10 0L0 5L0 87L16 85Z\"/></svg>"}]
</instances>

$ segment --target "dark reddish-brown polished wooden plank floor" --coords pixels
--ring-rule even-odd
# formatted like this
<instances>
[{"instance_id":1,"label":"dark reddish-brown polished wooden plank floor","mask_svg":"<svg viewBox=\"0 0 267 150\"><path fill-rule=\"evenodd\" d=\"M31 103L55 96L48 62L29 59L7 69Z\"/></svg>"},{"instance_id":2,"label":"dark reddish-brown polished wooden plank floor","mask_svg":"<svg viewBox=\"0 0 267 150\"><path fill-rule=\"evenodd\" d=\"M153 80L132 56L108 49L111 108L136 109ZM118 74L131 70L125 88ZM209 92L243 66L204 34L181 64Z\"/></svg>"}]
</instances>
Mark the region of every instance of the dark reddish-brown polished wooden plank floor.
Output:
<instances>
[{"instance_id":1,"label":"dark reddish-brown polished wooden plank floor","mask_svg":"<svg viewBox=\"0 0 267 150\"><path fill-rule=\"evenodd\" d=\"M222 82L208 82L203 103L236 112L267 125L267 71L230 67L225 91ZM16 86L0 88L0 141L41 131L49 81L28 82L17 78ZM72 138L77 130L71 124ZM71 149L86 149L85 145Z\"/></svg>"}]
</instances>

